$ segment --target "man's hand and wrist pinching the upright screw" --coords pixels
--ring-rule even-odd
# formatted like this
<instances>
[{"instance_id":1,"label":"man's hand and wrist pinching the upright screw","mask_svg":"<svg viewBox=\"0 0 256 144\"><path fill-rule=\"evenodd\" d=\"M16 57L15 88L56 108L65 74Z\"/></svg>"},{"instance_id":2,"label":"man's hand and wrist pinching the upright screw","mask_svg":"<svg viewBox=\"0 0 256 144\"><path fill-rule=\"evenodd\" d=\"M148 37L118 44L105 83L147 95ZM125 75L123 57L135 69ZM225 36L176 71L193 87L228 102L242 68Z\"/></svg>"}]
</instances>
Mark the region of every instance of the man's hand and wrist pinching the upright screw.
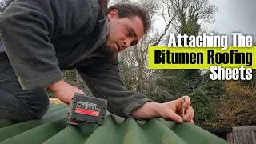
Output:
<instances>
[{"instance_id":1,"label":"man's hand and wrist pinching the upright screw","mask_svg":"<svg viewBox=\"0 0 256 144\"><path fill-rule=\"evenodd\" d=\"M164 118L180 123L184 121L194 123L194 109L190 103L190 98L184 96L184 118L182 118L182 98L165 103L146 102L138 109L133 110L130 115L141 119Z\"/></svg>"}]
</instances>

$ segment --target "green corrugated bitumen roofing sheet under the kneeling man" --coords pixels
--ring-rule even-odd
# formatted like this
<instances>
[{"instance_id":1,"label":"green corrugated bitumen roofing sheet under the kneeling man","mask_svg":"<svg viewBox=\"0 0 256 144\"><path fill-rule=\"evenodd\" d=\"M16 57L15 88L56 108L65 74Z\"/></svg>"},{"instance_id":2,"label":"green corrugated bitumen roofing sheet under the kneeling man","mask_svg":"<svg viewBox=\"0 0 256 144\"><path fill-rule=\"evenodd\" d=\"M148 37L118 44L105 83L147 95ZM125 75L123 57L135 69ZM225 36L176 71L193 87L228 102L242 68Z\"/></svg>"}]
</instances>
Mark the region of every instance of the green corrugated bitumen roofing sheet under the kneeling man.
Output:
<instances>
[{"instance_id":1,"label":"green corrugated bitumen roofing sheet under the kneeling man","mask_svg":"<svg viewBox=\"0 0 256 144\"><path fill-rule=\"evenodd\" d=\"M147 122L120 118L107 113L102 126L66 124L67 108L50 105L40 120L11 122L0 120L0 144L75 143L75 144L222 144L222 138L189 122L178 124L159 118Z\"/></svg>"}]
</instances>

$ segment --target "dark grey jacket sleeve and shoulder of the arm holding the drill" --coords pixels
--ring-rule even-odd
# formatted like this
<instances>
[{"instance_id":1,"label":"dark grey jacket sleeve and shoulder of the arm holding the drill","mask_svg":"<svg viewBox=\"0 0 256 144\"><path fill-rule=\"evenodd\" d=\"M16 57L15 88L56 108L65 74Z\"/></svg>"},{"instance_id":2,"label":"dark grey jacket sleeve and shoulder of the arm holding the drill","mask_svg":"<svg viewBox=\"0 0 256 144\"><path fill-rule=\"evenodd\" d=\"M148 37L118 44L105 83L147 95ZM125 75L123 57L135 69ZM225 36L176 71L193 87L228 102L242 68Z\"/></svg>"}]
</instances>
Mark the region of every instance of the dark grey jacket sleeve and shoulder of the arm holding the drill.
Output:
<instances>
[{"instance_id":1,"label":"dark grey jacket sleeve and shoulder of the arm holding the drill","mask_svg":"<svg viewBox=\"0 0 256 144\"><path fill-rule=\"evenodd\" d=\"M48 86L62 79L50 38L86 25L75 22L78 17L84 22L90 19L90 12L88 15L81 12L84 7L90 11L88 3L90 1L15 0L2 13L2 42L24 90Z\"/></svg>"}]
</instances>

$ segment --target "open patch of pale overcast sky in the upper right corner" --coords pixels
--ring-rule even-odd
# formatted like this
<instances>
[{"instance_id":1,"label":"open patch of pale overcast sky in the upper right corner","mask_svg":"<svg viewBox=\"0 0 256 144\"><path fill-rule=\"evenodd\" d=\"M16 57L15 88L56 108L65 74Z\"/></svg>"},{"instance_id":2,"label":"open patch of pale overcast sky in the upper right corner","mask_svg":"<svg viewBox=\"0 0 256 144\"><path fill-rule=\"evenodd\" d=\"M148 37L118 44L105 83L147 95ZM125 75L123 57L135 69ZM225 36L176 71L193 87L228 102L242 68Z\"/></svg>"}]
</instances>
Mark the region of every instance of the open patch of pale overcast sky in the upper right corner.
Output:
<instances>
[{"instance_id":1,"label":"open patch of pale overcast sky in the upper right corner","mask_svg":"<svg viewBox=\"0 0 256 144\"><path fill-rule=\"evenodd\" d=\"M256 0L210 0L218 6L216 22L207 25L207 29L218 29L220 34L241 32L254 34L256 38Z\"/></svg>"}]
</instances>

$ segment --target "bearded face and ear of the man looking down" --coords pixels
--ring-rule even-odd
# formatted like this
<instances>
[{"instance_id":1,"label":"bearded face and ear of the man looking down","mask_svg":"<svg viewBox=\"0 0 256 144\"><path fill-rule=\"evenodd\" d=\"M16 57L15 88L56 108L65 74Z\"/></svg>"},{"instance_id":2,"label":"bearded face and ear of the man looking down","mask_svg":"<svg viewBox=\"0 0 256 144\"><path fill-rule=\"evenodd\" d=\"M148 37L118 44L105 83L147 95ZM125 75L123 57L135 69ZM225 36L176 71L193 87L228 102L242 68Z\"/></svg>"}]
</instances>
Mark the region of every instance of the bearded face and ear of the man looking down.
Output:
<instances>
[{"instance_id":1,"label":"bearded face and ear of the man looking down","mask_svg":"<svg viewBox=\"0 0 256 144\"><path fill-rule=\"evenodd\" d=\"M117 10L112 10L107 18L109 19L109 34L104 49L107 56L115 58L118 52L138 43L144 34L144 26L137 16L118 18Z\"/></svg>"}]
</instances>

